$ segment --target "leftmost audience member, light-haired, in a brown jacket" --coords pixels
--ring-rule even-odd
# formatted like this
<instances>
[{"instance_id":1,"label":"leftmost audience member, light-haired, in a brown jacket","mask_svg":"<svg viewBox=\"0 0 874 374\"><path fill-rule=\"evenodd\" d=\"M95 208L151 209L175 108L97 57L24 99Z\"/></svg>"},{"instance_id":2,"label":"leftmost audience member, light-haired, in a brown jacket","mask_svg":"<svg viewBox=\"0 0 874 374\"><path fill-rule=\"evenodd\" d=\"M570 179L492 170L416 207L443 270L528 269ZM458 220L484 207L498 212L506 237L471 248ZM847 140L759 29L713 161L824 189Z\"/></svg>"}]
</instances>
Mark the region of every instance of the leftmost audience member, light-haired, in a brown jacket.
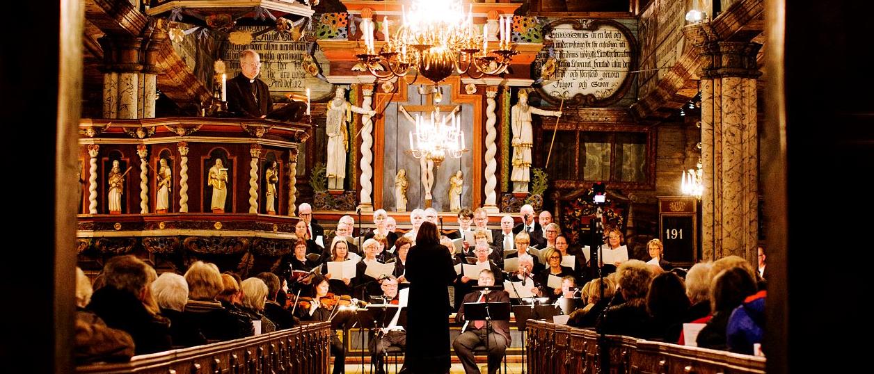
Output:
<instances>
[{"instance_id":1,"label":"leftmost audience member, light-haired, in a brown jacket","mask_svg":"<svg viewBox=\"0 0 874 374\"><path fill-rule=\"evenodd\" d=\"M91 301L91 281L76 267L76 322L73 325L73 360L76 364L128 361L134 356L134 338L107 326L101 317L85 310Z\"/></svg>"}]
</instances>

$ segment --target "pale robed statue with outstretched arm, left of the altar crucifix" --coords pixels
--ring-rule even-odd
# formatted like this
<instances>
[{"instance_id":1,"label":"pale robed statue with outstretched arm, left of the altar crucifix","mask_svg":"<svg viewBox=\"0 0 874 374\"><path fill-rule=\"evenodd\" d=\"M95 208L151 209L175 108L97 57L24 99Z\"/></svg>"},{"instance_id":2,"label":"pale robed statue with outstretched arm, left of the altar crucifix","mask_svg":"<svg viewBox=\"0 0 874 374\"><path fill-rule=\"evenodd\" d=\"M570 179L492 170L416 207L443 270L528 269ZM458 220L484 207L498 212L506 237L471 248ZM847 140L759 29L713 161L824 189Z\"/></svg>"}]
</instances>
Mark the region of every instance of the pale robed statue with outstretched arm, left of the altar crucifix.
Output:
<instances>
[{"instance_id":1,"label":"pale robed statue with outstretched arm, left of the altar crucifix","mask_svg":"<svg viewBox=\"0 0 874 374\"><path fill-rule=\"evenodd\" d=\"M328 177L329 190L343 190L343 179L346 177L346 151L349 149L349 128L352 113L376 115L376 111L367 111L356 107L345 99L346 89L336 87L334 99L328 103L325 133L328 135L328 166L325 174Z\"/></svg>"}]
</instances>

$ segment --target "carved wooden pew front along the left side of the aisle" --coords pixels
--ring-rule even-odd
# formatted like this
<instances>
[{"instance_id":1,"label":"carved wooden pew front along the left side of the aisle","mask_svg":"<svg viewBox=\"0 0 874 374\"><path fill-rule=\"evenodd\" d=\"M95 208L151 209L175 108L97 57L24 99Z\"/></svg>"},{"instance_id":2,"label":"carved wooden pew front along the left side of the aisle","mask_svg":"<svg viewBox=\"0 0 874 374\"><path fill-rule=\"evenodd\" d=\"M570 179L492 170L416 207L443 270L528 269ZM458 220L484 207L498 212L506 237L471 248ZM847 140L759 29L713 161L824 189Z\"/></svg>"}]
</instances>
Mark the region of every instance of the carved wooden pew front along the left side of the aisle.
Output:
<instances>
[{"instance_id":1,"label":"carved wooden pew front along the left side of the aisle","mask_svg":"<svg viewBox=\"0 0 874 374\"><path fill-rule=\"evenodd\" d=\"M327 374L330 323L305 324L260 336L251 336L135 356L127 363L88 364L79 373L288 373Z\"/></svg>"}]
</instances>

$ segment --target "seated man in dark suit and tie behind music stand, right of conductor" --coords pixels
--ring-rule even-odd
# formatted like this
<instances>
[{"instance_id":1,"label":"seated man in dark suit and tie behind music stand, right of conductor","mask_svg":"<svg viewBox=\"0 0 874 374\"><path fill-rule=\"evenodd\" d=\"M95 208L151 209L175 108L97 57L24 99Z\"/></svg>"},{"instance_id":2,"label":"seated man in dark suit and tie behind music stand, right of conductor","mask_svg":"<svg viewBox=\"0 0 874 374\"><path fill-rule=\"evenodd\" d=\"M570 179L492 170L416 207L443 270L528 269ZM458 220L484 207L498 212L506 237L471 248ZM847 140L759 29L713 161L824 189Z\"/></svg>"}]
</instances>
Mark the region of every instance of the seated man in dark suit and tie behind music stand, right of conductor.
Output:
<instances>
[{"instance_id":1,"label":"seated man in dark suit and tie behind music stand, right of conductor","mask_svg":"<svg viewBox=\"0 0 874 374\"><path fill-rule=\"evenodd\" d=\"M478 281L480 286L494 286L495 274L491 270L483 269ZM464 296L464 302L510 302L510 295L506 291L474 291ZM461 304L456 322L464 321L464 304ZM461 335L455 338L452 346L455 355L461 360L461 366L467 374L479 373L474 358L474 348L482 345L489 347L489 374L496 373L501 367L501 358L504 351L510 346L510 322L492 321L491 329L488 329L485 321L468 321L461 329ZM486 344L486 339L489 343Z\"/></svg>"}]
</instances>

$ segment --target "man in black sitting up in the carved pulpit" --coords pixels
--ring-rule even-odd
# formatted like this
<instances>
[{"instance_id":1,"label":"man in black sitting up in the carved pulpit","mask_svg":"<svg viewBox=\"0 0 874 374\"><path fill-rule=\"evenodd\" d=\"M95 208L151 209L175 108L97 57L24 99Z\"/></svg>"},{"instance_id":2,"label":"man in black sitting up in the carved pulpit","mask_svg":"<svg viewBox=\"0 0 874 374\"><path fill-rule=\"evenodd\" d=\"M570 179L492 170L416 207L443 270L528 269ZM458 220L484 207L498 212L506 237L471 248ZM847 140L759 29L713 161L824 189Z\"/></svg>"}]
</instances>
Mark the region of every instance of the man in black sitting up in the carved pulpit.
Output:
<instances>
[{"instance_id":1,"label":"man in black sitting up in the carved pulpit","mask_svg":"<svg viewBox=\"0 0 874 374\"><path fill-rule=\"evenodd\" d=\"M239 117L265 118L273 108L270 88L259 80L261 58L258 52L246 50L239 53L240 72L227 81L227 110Z\"/></svg>"}]
</instances>

